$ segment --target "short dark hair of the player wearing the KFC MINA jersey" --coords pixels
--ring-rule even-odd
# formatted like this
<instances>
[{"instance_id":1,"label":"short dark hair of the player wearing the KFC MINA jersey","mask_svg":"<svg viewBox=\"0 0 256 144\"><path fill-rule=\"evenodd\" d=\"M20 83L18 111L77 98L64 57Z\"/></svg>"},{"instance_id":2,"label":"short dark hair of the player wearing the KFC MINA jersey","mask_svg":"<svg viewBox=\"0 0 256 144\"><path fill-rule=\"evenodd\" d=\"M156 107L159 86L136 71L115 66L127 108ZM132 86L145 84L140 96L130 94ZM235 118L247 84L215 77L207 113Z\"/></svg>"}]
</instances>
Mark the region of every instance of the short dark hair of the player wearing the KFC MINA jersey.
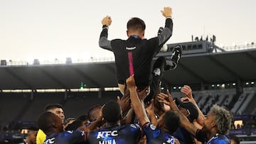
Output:
<instances>
[{"instance_id":1,"label":"short dark hair of the player wearing the KFC MINA jersey","mask_svg":"<svg viewBox=\"0 0 256 144\"><path fill-rule=\"evenodd\" d=\"M117 101L108 101L102 108L102 116L109 123L115 123L120 120L121 108Z\"/></svg>"}]
</instances>

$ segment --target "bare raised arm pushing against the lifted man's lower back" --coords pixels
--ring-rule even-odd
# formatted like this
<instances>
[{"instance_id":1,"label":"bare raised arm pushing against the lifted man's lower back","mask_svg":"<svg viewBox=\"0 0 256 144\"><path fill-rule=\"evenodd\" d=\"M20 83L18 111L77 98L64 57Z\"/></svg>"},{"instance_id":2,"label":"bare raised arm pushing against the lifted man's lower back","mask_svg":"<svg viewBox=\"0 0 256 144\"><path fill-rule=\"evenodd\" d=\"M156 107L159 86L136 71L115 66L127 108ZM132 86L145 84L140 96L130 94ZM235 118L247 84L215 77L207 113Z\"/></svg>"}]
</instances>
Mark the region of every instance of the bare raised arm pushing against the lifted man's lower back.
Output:
<instances>
[{"instance_id":1,"label":"bare raised arm pushing against the lifted man's lower back","mask_svg":"<svg viewBox=\"0 0 256 144\"><path fill-rule=\"evenodd\" d=\"M135 85L134 75L127 79L127 89L129 89L130 97L132 101L132 108L139 119L139 125L144 126L145 123L149 123L149 118L146 116L146 110L144 108L144 102L139 99L137 94L137 87Z\"/></svg>"}]
</instances>

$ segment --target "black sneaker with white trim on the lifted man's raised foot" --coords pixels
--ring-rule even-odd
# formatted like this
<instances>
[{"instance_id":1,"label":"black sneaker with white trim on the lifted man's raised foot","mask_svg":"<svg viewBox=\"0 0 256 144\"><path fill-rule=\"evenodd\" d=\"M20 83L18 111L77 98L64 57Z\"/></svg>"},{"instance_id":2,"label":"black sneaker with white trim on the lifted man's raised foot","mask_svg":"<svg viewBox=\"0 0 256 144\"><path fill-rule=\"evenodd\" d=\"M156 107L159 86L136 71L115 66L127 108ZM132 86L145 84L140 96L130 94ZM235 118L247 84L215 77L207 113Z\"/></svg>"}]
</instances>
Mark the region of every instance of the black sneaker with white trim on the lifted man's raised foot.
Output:
<instances>
[{"instance_id":1,"label":"black sneaker with white trim on the lifted man's raised foot","mask_svg":"<svg viewBox=\"0 0 256 144\"><path fill-rule=\"evenodd\" d=\"M171 54L171 60L166 60L165 70L174 70L178 65L178 61L181 59L181 54L182 54L182 46L176 45Z\"/></svg>"}]
</instances>

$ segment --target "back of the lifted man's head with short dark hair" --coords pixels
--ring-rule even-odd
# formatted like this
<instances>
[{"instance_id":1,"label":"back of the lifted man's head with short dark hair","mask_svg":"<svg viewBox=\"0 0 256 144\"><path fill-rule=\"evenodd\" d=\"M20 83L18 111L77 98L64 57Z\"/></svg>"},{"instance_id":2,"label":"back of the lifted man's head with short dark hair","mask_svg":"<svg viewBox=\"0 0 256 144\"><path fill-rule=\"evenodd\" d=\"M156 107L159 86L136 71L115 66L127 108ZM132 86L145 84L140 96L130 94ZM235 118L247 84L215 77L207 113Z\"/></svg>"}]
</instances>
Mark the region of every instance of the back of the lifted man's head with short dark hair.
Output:
<instances>
[{"instance_id":1,"label":"back of the lifted man's head with short dark hair","mask_svg":"<svg viewBox=\"0 0 256 144\"><path fill-rule=\"evenodd\" d=\"M146 24L141 18L131 18L127 22L127 35L138 34L141 38L144 38L144 31L146 29Z\"/></svg>"}]
</instances>

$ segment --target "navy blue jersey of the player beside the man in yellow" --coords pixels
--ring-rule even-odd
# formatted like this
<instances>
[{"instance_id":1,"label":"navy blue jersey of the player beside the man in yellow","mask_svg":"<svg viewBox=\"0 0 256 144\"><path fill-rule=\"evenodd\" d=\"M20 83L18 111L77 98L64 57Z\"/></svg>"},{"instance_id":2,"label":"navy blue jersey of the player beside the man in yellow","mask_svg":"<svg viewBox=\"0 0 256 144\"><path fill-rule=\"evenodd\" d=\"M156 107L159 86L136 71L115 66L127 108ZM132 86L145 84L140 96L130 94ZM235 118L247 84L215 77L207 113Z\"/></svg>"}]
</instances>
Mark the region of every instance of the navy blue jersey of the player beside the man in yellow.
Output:
<instances>
[{"instance_id":1,"label":"navy blue jersey of the player beside the man in yellow","mask_svg":"<svg viewBox=\"0 0 256 144\"><path fill-rule=\"evenodd\" d=\"M46 136L44 144L71 144L85 143L86 135L84 131L64 131Z\"/></svg>"}]
</instances>

